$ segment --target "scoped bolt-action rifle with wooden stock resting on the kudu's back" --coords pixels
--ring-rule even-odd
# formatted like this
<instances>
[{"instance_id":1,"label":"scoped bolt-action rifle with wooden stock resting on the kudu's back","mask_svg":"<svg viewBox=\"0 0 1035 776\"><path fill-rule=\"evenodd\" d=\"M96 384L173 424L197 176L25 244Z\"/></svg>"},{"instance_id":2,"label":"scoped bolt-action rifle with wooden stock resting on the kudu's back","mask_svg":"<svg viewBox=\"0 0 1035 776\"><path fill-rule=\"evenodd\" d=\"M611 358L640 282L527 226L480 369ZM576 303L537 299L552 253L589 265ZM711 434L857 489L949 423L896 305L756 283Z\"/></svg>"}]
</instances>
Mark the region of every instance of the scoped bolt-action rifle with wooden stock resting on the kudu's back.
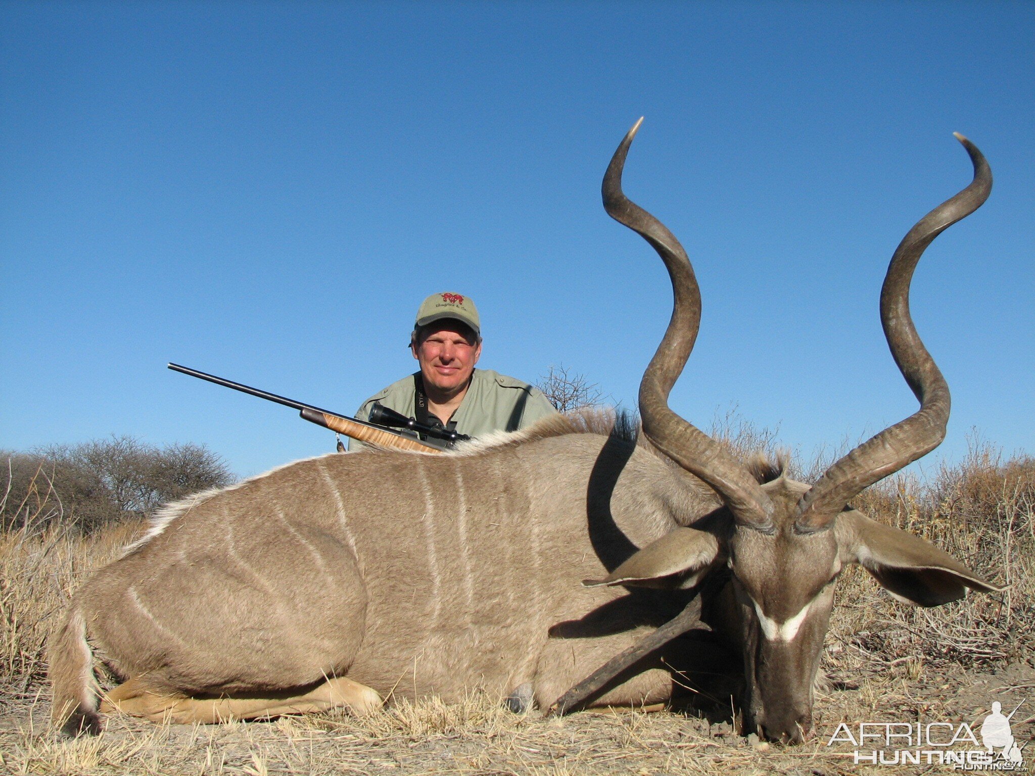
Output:
<instances>
[{"instance_id":1,"label":"scoped bolt-action rifle with wooden stock resting on the kudu's back","mask_svg":"<svg viewBox=\"0 0 1035 776\"><path fill-rule=\"evenodd\" d=\"M234 390L241 391L242 393L249 393L253 396L265 398L268 401L276 401L278 405L294 408L295 410L298 410L298 414L302 420L307 420L310 423L322 425L324 428L330 428L332 431L336 431L337 434L344 434L346 437L351 437L354 440L365 442L371 445L377 445L378 447L390 447L397 450L416 450L418 452L443 452L444 450L449 449L453 442L466 441L470 439L470 437L463 434L456 434L455 431L448 431L442 428L434 428L423 423L418 423L416 420L411 420L405 415L401 415L394 410L389 410L387 407L382 407L379 404L375 404L371 411L372 420L376 420L378 422L367 422L365 420L357 420L356 418L350 418L344 415L338 415L337 413L328 412L327 410L321 410L320 408L313 407L312 405L303 405L301 401L295 401L291 398L278 396L275 393L262 391L258 388L242 385L241 383L235 383L232 380L217 378L215 375L208 375L204 371L198 371L197 369L191 369L187 366L170 363L169 368L174 371L189 375L193 378L207 380L210 383L215 383L216 385L221 385L226 388L233 388ZM416 440L413 439L413 437L407 437L398 431L394 431L389 426L409 428L410 430L426 436L428 439L423 441ZM341 443L338 443L338 445L341 449Z\"/></svg>"}]
</instances>

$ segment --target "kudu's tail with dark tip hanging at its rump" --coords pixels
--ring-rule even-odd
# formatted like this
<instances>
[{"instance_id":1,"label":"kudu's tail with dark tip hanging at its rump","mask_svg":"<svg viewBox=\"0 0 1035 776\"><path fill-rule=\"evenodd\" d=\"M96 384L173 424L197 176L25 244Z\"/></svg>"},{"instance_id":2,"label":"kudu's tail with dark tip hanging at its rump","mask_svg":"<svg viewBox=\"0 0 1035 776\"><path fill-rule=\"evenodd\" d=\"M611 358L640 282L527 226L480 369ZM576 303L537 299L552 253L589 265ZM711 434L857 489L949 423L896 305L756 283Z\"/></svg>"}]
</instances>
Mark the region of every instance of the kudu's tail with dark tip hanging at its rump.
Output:
<instances>
[{"instance_id":1,"label":"kudu's tail with dark tip hanging at its rump","mask_svg":"<svg viewBox=\"0 0 1035 776\"><path fill-rule=\"evenodd\" d=\"M72 606L48 645L48 676L54 689L51 718L66 736L100 733L93 653L86 643L86 623Z\"/></svg>"}]
</instances>

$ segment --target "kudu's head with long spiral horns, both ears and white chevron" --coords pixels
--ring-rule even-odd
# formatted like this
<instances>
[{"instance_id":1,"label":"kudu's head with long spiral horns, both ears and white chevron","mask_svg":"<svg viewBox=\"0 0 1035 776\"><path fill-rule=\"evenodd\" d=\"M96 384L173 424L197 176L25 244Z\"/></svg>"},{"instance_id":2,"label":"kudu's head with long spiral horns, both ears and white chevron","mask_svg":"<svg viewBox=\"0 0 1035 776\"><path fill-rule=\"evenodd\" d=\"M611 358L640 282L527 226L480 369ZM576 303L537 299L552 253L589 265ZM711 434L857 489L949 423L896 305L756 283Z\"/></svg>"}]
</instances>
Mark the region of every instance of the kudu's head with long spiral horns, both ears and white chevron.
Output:
<instances>
[{"instance_id":1,"label":"kudu's head with long spiral horns, both ears and white chevron","mask_svg":"<svg viewBox=\"0 0 1035 776\"><path fill-rule=\"evenodd\" d=\"M949 391L910 318L910 280L930 241L987 199L992 173L980 151L957 135L974 165L973 182L909 232L884 280L881 321L891 355L920 400L919 411L837 460L811 487L782 475L761 483L669 408L669 392L698 334L701 295L676 238L622 192L622 168L639 127L637 122L615 152L602 188L608 213L661 257L675 295L669 328L640 386L643 430L655 447L711 486L724 506L693 528L676 529L647 545L604 579L586 584L688 589L724 564L744 655L745 729L802 741L812 729L812 685L834 583L846 565L861 564L895 598L921 606L962 598L967 588L996 590L933 544L849 506L863 488L929 452L945 437ZM630 654L626 664L641 656Z\"/></svg>"}]
</instances>

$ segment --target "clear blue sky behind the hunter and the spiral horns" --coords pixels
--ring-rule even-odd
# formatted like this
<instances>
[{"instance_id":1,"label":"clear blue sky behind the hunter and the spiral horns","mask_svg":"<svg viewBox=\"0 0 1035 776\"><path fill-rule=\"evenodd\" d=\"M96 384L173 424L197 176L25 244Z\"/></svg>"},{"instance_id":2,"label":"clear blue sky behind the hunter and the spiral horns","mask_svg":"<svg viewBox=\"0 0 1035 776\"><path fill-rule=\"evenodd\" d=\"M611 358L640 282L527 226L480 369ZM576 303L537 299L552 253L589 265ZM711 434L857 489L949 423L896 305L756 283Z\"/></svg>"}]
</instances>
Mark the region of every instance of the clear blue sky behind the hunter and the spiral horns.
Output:
<instances>
[{"instance_id":1,"label":"clear blue sky behind the hunter and the spiral horns","mask_svg":"<svg viewBox=\"0 0 1035 776\"><path fill-rule=\"evenodd\" d=\"M913 283L940 454L1035 450L1033 40L1032 3L4 2L0 447L129 434L241 475L330 450L166 362L352 413L446 290L480 365L634 406L671 296L599 183L643 115L625 190L704 295L677 412L808 454L916 409L878 294L970 180L956 130L996 184Z\"/></svg>"}]
</instances>

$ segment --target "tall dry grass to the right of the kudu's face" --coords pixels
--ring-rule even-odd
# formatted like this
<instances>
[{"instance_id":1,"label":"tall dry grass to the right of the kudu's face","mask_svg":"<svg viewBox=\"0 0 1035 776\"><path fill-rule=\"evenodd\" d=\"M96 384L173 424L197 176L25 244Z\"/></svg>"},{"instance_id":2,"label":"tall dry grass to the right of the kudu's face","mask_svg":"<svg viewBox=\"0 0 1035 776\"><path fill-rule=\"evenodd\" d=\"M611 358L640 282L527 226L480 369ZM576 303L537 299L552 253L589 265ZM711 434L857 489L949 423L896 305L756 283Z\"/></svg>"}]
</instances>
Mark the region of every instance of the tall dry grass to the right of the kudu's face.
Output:
<instances>
[{"instance_id":1,"label":"tall dry grass to the right of the kudu's face","mask_svg":"<svg viewBox=\"0 0 1035 776\"><path fill-rule=\"evenodd\" d=\"M933 541L1006 590L924 609L893 601L854 568L837 588L831 628L834 649L844 647L848 665L923 660L973 666L1035 654L1035 459L1003 461L988 446L977 446L929 482L894 477L856 504ZM828 650L828 656L839 654Z\"/></svg>"}]
</instances>

